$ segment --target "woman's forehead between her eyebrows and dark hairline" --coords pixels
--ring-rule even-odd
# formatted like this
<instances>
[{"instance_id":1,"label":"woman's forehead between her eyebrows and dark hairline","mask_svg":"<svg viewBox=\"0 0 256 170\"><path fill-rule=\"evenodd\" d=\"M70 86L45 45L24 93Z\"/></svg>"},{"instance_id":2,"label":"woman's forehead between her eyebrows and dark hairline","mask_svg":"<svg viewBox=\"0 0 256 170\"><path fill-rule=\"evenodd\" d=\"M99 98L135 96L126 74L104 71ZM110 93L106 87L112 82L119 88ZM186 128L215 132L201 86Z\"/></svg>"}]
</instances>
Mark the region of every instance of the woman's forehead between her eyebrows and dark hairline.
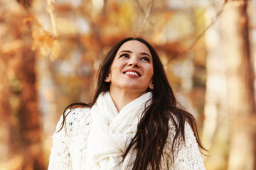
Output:
<instances>
[{"instance_id":1,"label":"woman's forehead between her eyebrows and dark hairline","mask_svg":"<svg viewBox=\"0 0 256 170\"><path fill-rule=\"evenodd\" d=\"M144 43L137 41L137 40L129 40L127 42L124 42L124 44L119 47L119 50L117 51L117 54L119 52L122 52L122 50L129 50L131 52L146 52L149 55L151 55L151 52Z\"/></svg>"}]
</instances>

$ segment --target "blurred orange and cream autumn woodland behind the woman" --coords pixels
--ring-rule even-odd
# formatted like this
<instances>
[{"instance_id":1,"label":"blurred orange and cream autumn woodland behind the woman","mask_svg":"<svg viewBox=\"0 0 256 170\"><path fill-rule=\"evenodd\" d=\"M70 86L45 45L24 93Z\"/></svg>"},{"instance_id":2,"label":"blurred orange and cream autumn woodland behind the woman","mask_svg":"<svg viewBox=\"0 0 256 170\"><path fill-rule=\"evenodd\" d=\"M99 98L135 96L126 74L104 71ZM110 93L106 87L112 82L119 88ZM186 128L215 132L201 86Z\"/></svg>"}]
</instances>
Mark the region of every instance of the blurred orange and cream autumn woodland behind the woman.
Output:
<instances>
[{"instance_id":1,"label":"blurred orange and cream autumn woodland behind the woman","mask_svg":"<svg viewBox=\"0 0 256 170\"><path fill-rule=\"evenodd\" d=\"M256 169L256 1L0 0L0 169L47 169L68 104L89 102L110 48L155 47L198 122L208 170Z\"/></svg>"}]
</instances>

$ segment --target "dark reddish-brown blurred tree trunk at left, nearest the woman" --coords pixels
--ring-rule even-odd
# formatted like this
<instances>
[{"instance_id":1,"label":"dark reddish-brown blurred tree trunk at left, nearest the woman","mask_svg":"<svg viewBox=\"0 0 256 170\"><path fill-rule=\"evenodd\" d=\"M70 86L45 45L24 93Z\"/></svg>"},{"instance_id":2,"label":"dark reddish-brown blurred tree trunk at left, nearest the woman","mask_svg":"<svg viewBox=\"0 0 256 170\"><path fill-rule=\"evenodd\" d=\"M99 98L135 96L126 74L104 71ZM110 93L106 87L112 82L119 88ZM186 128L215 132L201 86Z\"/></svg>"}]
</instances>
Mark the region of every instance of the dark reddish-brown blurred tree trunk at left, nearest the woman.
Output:
<instances>
[{"instance_id":1,"label":"dark reddish-brown blurred tree trunk at left, nearest the woman","mask_svg":"<svg viewBox=\"0 0 256 170\"><path fill-rule=\"evenodd\" d=\"M38 110L38 94L35 72L36 52L24 47L20 67L16 75L21 83L21 147L23 147L23 169L45 169L41 144L41 122Z\"/></svg>"}]
</instances>

